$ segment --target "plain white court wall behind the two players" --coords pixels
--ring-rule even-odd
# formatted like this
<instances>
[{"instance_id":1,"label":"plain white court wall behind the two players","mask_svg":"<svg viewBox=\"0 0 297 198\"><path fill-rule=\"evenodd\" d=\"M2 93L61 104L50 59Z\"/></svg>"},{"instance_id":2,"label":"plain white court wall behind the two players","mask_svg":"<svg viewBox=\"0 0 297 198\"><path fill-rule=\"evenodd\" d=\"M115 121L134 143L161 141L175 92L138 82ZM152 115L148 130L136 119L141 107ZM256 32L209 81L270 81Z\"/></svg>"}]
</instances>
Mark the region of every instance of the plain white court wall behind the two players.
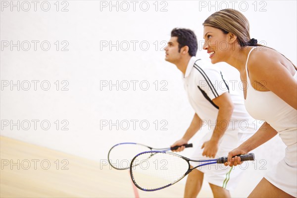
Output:
<instances>
[{"instance_id":1,"label":"plain white court wall behind the two players","mask_svg":"<svg viewBox=\"0 0 297 198\"><path fill-rule=\"evenodd\" d=\"M297 62L296 1L11 3L1 1L0 135L96 161L106 160L120 142L170 146L189 126L194 111L181 73L162 50L175 27L194 30L201 44L202 22L226 6L235 8L249 20L251 38ZM197 56L209 60L201 46ZM214 66L241 91L234 68ZM118 90L110 87L117 82ZM206 131L194 137L194 146ZM256 156L269 169L283 150L276 137ZM256 177L265 172L255 169Z\"/></svg>"}]
</instances>

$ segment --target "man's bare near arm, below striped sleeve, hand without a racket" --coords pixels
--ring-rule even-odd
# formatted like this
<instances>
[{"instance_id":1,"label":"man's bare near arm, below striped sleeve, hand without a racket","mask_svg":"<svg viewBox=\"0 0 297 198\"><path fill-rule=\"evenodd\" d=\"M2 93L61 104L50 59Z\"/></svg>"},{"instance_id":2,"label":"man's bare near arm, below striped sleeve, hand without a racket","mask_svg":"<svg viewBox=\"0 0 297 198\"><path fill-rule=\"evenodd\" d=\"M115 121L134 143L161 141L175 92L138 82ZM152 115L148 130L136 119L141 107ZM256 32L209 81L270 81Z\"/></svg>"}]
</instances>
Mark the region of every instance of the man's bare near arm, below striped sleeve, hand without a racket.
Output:
<instances>
[{"instance_id":1,"label":"man's bare near arm, below striped sleeve, hand without a racket","mask_svg":"<svg viewBox=\"0 0 297 198\"><path fill-rule=\"evenodd\" d=\"M217 122L211 139L203 143L201 148L204 148L202 155L210 158L214 158L218 151L219 140L223 137L225 131L229 126L231 115L233 113L234 104L230 98L228 92L220 95L212 100L218 107L219 112L217 116Z\"/></svg>"}]
</instances>

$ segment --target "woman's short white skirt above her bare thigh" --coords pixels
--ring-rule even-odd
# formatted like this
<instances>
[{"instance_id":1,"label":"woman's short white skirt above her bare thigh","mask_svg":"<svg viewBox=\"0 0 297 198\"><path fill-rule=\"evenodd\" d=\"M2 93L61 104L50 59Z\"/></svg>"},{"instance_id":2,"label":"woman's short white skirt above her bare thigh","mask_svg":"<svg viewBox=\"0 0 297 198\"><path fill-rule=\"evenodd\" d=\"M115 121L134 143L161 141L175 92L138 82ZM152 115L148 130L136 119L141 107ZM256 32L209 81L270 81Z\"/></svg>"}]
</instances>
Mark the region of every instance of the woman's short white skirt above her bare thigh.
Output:
<instances>
[{"instance_id":1,"label":"woman's short white skirt above her bare thigh","mask_svg":"<svg viewBox=\"0 0 297 198\"><path fill-rule=\"evenodd\" d=\"M297 144L286 148L286 155L265 176L271 184L297 197Z\"/></svg>"}]
</instances>

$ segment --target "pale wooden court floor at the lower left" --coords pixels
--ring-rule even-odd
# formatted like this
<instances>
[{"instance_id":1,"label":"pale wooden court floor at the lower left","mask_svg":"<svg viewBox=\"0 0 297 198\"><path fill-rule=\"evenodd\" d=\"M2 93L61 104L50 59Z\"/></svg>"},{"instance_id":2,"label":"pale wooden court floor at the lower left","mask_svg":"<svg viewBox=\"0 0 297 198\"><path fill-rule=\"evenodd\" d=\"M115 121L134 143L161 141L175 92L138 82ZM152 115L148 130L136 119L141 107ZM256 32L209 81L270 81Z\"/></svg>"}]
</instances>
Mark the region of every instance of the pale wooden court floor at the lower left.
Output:
<instances>
[{"instance_id":1,"label":"pale wooden court floor at the lower left","mask_svg":"<svg viewBox=\"0 0 297 198\"><path fill-rule=\"evenodd\" d=\"M1 198L135 198L128 170L0 136ZM182 198L184 184L140 198ZM137 194L136 194L137 195ZM200 192L199 197L211 197Z\"/></svg>"}]
</instances>

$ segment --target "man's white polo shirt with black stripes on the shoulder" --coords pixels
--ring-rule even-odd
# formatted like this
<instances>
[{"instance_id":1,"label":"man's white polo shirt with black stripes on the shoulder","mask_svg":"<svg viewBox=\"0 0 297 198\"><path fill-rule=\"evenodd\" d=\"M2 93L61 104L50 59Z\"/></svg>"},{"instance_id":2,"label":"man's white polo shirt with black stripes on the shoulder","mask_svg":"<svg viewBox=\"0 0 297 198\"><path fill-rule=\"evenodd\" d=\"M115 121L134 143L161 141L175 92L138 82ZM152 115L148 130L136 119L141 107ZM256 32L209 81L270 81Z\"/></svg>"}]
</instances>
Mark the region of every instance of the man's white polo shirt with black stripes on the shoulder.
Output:
<instances>
[{"instance_id":1,"label":"man's white polo shirt with black stripes on the shoulder","mask_svg":"<svg viewBox=\"0 0 297 198\"><path fill-rule=\"evenodd\" d=\"M225 133L234 133L234 130L238 133L255 132L254 119L247 113L243 97L236 91L229 90L228 82L215 66L192 56L183 80L190 104L204 121L203 125L208 125L209 130L214 130L219 111L212 99L229 92L234 103L234 111L230 123L226 125L227 122L223 121L220 126L228 127Z\"/></svg>"}]
</instances>

